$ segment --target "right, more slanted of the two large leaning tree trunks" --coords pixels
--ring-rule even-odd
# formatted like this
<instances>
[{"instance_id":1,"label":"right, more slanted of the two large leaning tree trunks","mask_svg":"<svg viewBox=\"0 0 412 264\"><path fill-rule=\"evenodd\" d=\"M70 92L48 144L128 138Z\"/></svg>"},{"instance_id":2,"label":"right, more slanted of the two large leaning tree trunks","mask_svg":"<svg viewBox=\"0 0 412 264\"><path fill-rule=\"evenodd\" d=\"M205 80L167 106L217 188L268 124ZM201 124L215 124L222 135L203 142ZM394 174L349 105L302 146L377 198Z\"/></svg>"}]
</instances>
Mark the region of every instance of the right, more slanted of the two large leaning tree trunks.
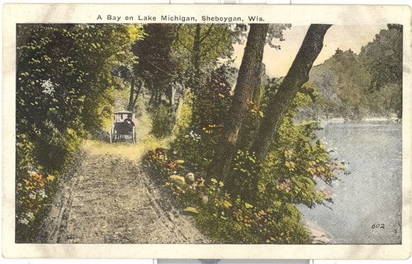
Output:
<instances>
[{"instance_id":1,"label":"right, more slanted of the two large leaning tree trunks","mask_svg":"<svg viewBox=\"0 0 412 264\"><path fill-rule=\"evenodd\" d=\"M288 74L283 79L276 95L269 101L268 109L264 113L264 119L251 147L257 159L263 160L266 157L271 142L278 136L278 129L288 105L298 93L298 89L309 80L310 68L322 50L323 38L330 26L332 25L310 25Z\"/></svg>"}]
</instances>

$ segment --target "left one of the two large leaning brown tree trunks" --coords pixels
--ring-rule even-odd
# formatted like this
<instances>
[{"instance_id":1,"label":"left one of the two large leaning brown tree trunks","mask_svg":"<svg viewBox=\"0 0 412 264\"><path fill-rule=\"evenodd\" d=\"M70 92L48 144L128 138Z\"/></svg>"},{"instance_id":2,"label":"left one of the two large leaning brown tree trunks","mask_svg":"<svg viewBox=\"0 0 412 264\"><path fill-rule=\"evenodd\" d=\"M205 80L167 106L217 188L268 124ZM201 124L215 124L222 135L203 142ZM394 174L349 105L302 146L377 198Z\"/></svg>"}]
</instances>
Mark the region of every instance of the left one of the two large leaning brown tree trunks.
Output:
<instances>
[{"instance_id":1,"label":"left one of the two large leaning brown tree trunks","mask_svg":"<svg viewBox=\"0 0 412 264\"><path fill-rule=\"evenodd\" d=\"M210 174L220 181L225 181L237 152L239 131L248 112L247 101L252 99L254 90L261 84L261 66L268 28L268 24L251 24L250 27L232 105L210 168Z\"/></svg>"}]
</instances>

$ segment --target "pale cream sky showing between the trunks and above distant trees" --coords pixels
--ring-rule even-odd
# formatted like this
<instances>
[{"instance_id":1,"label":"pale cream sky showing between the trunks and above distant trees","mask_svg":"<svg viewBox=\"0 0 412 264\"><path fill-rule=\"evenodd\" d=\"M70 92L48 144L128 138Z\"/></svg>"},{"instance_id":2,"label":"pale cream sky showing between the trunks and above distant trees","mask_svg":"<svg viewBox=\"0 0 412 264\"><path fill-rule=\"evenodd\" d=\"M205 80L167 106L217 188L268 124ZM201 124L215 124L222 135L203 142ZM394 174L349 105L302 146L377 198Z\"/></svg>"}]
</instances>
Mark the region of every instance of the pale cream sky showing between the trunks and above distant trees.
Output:
<instances>
[{"instance_id":1,"label":"pale cream sky showing between the trunks and above distant trees","mask_svg":"<svg viewBox=\"0 0 412 264\"><path fill-rule=\"evenodd\" d=\"M269 75L269 77L282 77L288 73L308 28L309 25L292 25L291 29L283 31L285 41L277 42L280 43L281 50L276 50L266 45L263 62L266 65L266 74ZM325 34L322 51L313 65L323 63L327 58L335 54L337 48L340 48L342 51L347 51L350 48L354 53L359 54L362 46L366 46L367 43L372 42L375 35L378 34L381 29L386 28L386 24L331 26ZM237 45L234 49L237 56L235 65L239 67L244 46Z\"/></svg>"}]
</instances>

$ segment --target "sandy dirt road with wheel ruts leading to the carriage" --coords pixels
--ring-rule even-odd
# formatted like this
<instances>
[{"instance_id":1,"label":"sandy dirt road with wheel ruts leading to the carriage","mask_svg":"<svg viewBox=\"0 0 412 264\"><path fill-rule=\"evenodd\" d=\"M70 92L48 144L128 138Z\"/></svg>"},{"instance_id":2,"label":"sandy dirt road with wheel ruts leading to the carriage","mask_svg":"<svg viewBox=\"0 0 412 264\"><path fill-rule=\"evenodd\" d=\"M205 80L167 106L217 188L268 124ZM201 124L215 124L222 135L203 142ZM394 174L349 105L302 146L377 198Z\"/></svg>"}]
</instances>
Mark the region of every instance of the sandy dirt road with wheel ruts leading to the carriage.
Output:
<instances>
[{"instance_id":1,"label":"sandy dirt road with wheel ruts leading to the carriage","mask_svg":"<svg viewBox=\"0 0 412 264\"><path fill-rule=\"evenodd\" d=\"M134 152L134 153L131 153ZM88 142L62 179L38 243L209 243L139 147Z\"/></svg>"}]
</instances>

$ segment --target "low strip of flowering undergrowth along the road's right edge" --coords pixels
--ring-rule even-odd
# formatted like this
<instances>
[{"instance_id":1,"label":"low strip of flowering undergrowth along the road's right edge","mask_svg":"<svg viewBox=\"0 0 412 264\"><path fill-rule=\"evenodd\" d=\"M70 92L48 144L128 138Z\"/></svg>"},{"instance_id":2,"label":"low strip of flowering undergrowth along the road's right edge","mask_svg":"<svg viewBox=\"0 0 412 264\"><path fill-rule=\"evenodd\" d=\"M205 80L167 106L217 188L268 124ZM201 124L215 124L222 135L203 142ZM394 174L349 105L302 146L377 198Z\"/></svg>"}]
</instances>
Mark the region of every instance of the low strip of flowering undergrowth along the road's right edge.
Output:
<instances>
[{"instance_id":1,"label":"low strip of flowering undergrowth along the road's right edge","mask_svg":"<svg viewBox=\"0 0 412 264\"><path fill-rule=\"evenodd\" d=\"M148 151L144 160L156 167L209 238L220 243L308 243L310 234L300 225L295 206L278 202L259 208L231 196L224 184L194 174L188 179L186 161L171 160L165 149ZM167 152L167 151L166 151ZM189 172L190 173L190 172ZM179 178L179 180L176 180ZM181 180L183 179L183 181Z\"/></svg>"}]
</instances>

